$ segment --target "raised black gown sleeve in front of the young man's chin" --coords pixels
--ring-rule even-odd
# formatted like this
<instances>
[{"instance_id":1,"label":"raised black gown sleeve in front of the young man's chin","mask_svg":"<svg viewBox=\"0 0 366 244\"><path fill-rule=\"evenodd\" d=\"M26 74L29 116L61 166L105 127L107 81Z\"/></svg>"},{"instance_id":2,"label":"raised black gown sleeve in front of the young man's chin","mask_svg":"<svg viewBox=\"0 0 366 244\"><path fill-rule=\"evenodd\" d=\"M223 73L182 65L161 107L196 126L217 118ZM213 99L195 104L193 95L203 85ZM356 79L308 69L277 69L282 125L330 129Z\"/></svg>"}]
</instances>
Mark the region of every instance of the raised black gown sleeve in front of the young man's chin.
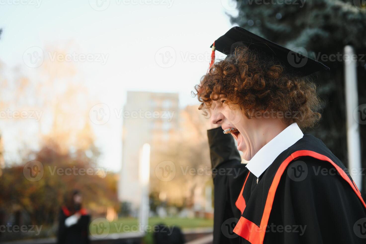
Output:
<instances>
[{"instance_id":1,"label":"raised black gown sleeve in front of the young man's chin","mask_svg":"<svg viewBox=\"0 0 366 244\"><path fill-rule=\"evenodd\" d=\"M235 202L248 170L241 163L232 135L223 134L220 127L207 134L214 183L213 243L239 243L240 237L233 233L241 215Z\"/></svg>"}]
</instances>

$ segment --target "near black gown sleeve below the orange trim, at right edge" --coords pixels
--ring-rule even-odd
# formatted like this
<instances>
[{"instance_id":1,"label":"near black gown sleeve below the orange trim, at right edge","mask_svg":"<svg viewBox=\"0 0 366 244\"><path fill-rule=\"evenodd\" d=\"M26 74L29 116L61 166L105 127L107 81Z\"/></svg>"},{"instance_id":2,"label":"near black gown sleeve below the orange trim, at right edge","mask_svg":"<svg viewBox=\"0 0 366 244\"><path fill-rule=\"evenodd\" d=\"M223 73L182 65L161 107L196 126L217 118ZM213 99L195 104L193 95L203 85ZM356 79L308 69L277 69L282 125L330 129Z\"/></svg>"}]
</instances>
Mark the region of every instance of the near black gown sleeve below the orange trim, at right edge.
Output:
<instances>
[{"instance_id":1,"label":"near black gown sleeve below the orange trim, at right edge","mask_svg":"<svg viewBox=\"0 0 366 244\"><path fill-rule=\"evenodd\" d=\"M366 243L365 207L349 183L328 162L298 160L306 177L282 175L264 243Z\"/></svg>"}]
</instances>

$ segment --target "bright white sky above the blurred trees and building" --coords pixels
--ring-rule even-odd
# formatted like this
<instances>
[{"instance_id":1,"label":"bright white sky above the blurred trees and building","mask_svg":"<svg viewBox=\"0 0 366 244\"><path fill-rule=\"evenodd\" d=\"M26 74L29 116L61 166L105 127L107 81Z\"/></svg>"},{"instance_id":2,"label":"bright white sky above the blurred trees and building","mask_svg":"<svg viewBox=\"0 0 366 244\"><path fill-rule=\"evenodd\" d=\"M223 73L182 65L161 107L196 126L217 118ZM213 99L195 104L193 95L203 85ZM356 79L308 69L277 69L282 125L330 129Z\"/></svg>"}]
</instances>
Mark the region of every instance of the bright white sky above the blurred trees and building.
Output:
<instances>
[{"instance_id":1,"label":"bright white sky above the blurred trees and building","mask_svg":"<svg viewBox=\"0 0 366 244\"><path fill-rule=\"evenodd\" d=\"M197 104L191 91L207 70L210 44L232 26L233 6L228 0L0 0L0 61L32 72L37 68L23 60L30 47L72 41L91 96L111 110L108 123L93 129L100 164L117 171L122 118L113 110L123 108L129 90L178 92L181 107ZM81 54L92 54L92 61L80 61ZM22 138L0 129L16 140L9 145L19 145Z\"/></svg>"}]
</instances>

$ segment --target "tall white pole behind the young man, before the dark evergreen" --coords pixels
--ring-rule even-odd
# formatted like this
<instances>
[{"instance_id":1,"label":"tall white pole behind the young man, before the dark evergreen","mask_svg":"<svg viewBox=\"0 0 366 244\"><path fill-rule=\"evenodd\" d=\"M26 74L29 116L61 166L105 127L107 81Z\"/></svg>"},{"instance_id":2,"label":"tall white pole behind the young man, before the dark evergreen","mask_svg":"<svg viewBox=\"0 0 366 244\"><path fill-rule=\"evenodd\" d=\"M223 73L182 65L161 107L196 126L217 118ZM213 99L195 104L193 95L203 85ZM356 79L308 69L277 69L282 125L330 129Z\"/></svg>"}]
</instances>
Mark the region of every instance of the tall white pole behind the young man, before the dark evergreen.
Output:
<instances>
[{"instance_id":1,"label":"tall white pole behind the young man, before the dark evergreen","mask_svg":"<svg viewBox=\"0 0 366 244\"><path fill-rule=\"evenodd\" d=\"M357 92L357 58L350 45L344 47L344 80L346 87L346 120L347 120L347 149L349 173L358 189L362 188L361 172L361 146L359 123L354 119L353 112L358 106ZM356 172L352 173L352 172Z\"/></svg>"}]
</instances>

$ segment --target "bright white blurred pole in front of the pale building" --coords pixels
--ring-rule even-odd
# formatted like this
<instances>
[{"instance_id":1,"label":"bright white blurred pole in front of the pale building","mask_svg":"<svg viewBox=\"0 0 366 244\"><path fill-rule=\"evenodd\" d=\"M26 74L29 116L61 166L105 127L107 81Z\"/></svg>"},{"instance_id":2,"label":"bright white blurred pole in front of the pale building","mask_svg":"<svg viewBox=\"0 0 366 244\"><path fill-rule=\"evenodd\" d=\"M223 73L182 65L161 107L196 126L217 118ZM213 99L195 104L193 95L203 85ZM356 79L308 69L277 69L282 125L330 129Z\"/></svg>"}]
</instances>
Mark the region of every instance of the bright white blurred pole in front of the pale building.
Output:
<instances>
[{"instance_id":1,"label":"bright white blurred pole in front of the pale building","mask_svg":"<svg viewBox=\"0 0 366 244\"><path fill-rule=\"evenodd\" d=\"M139 230L145 233L149 224L149 181L150 181L150 145L145 143L140 150L139 181L141 184L141 204L139 209Z\"/></svg>"}]
</instances>

